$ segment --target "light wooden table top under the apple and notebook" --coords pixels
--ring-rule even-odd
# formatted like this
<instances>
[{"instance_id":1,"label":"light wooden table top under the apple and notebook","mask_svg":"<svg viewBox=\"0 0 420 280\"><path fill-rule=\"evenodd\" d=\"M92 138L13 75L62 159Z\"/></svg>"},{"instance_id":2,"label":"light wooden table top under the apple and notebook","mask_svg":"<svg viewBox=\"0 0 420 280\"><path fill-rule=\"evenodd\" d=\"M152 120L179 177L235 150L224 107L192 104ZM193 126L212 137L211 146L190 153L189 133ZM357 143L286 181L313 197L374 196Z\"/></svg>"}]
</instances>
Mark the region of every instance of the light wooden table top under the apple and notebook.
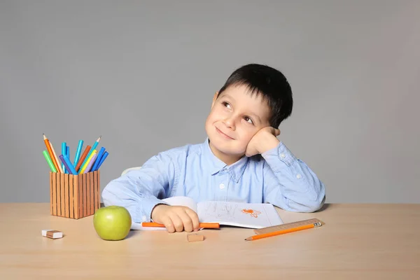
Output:
<instances>
[{"instance_id":1,"label":"light wooden table top under the apple and notebook","mask_svg":"<svg viewBox=\"0 0 420 280\"><path fill-rule=\"evenodd\" d=\"M253 230L131 231L97 236L92 216L50 216L49 204L0 204L0 279L420 279L420 204L326 204L311 214L278 210L285 223L320 228L255 241ZM62 239L41 236L61 230Z\"/></svg>"}]
</instances>

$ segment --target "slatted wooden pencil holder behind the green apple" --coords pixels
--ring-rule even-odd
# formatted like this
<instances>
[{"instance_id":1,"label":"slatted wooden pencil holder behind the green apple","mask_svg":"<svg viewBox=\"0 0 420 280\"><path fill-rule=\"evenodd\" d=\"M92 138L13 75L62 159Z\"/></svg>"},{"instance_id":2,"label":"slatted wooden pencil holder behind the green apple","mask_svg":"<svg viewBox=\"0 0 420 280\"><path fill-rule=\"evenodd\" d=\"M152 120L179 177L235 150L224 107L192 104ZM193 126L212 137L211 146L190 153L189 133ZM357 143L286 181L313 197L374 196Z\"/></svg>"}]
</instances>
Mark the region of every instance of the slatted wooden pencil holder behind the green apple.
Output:
<instances>
[{"instance_id":1,"label":"slatted wooden pencil holder behind the green apple","mask_svg":"<svg viewBox=\"0 0 420 280\"><path fill-rule=\"evenodd\" d=\"M100 207L99 170L72 175L50 172L52 216L84 218Z\"/></svg>"}]
</instances>

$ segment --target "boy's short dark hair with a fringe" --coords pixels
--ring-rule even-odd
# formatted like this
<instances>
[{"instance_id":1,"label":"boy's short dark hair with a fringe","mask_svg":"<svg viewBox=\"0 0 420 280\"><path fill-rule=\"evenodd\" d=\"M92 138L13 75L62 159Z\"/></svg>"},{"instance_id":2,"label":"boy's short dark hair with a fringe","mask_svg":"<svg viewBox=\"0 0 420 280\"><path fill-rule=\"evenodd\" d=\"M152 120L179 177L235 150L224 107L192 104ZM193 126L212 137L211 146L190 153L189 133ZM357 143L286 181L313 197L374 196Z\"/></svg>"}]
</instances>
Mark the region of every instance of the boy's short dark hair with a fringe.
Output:
<instances>
[{"instance_id":1,"label":"boy's short dark hair with a fringe","mask_svg":"<svg viewBox=\"0 0 420 280\"><path fill-rule=\"evenodd\" d=\"M271 110L269 125L272 127L279 127L292 113L292 89L279 70L261 64L241 66L230 74L218 96L232 85L247 85L251 94L262 94Z\"/></svg>"}]
</instances>

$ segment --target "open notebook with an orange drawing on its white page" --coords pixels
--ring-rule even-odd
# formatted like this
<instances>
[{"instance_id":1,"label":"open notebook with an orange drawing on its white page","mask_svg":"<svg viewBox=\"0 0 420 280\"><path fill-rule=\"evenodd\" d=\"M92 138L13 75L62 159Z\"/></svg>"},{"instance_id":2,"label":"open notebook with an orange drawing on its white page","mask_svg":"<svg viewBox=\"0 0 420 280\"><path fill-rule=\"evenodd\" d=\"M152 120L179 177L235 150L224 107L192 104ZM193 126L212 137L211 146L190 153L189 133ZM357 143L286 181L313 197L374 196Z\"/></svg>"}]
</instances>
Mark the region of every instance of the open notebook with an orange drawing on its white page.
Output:
<instances>
[{"instance_id":1,"label":"open notebook with an orange drawing on its white page","mask_svg":"<svg viewBox=\"0 0 420 280\"><path fill-rule=\"evenodd\" d=\"M199 202L190 197L169 197L169 205L190 207L199 217L200 223L220 223L241 228L265 228L281 225L283 221L272 204L243 202ZM132 230L166 230L166 228L144 228L141 223L132 223Z\"/></svg>"}]
</instances>

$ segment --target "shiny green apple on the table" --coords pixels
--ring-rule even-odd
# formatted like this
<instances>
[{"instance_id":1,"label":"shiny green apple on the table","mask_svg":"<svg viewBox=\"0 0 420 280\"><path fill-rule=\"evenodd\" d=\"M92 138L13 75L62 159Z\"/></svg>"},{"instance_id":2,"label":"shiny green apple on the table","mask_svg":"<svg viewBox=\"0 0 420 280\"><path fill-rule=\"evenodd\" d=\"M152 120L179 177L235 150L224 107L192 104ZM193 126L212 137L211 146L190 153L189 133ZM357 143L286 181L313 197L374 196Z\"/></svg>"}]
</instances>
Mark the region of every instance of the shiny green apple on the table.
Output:
<instances>
[{"instance_id":1,"label":"shiny green apple on the table","mask_svg":"<svg viewBox=\"0 0 420 280\"><path fill-rule=\"evenodd\" d=\"M97 209L93 226L104 240L122 240L127 237L132 225L130 212L125 207L107 206Z\"/></svg>"}]
</instances>

